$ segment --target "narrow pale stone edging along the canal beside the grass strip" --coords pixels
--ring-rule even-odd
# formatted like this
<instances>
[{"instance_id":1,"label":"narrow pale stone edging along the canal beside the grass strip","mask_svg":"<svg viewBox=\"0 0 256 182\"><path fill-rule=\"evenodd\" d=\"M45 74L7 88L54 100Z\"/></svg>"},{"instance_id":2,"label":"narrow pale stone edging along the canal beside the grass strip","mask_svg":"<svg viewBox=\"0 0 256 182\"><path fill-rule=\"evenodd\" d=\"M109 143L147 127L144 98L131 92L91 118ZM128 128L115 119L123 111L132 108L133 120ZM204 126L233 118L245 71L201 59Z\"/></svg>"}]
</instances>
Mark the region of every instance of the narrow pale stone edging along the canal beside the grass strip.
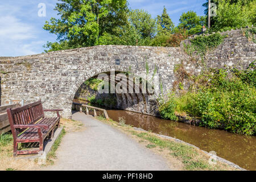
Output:
<instances>
[{"instance_id":1,"label":"narrow pale stone edging along the canal beside the grass strip","mask_svg":"<svg viewBox=\"0 0 256 182\"><path fill-rule=\"evenodd\" d=\"M138 128L138 127L133 127L133 129L134 129L134 130L137 130L137 131L143 131L143 132L146 132L146 133L150 133L149 131L143 130L143 129ZM156 133L154 133L154 134L156 134ZM217 161L219 161L219 162L223 162L223 163L228 164L230 167L240 169L241 171L247 171L246 169L244 169L244 168L238 166L237 164L234 164L234 163L230 162L229 160L223 159L223 158L221 158L221 157L219 157L219 156L217 156L217 155L214 155L214 154L210 154L209 152L204 151L204 150L201 150L199 147L196 147L196 146L194 146L193 144L184 142L183 140L180 140L180 139L177 139L177 138L173 138L173 137L169 137L169 136L166 136L166 135L160 135L160 134L156 134L156 135L157 135L158 137L161 137L161 138L164 138L164 139L171 139L171 140L174 140L175 142L187 144L188 146L197 148L198 150L204 152L205 154L209 155L209 157L212 157L212 158L214 158L214 159L217 159Z\"/></svg>"}]
</instances>

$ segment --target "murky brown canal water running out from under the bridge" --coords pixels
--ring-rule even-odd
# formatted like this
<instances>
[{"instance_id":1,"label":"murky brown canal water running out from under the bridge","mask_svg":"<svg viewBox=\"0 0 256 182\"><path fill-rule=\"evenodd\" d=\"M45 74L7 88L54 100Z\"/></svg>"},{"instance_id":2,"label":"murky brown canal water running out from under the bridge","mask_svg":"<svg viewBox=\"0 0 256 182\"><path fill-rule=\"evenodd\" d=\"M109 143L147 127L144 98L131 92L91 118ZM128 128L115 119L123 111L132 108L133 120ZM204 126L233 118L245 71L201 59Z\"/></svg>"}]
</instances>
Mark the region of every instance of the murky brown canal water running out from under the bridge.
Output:
<instances>
[{"instance_id":1,"label":"murky brown canal water running out from under the bridge","mask_svg":"<svg viewBox=\"0 0 256 182\"><path fill-rule=\"evenodd\" d=\"M79 101L76 100L76 102ZM242 168L256 170L255 136L249 137L224 130L207 129L125 110L108 110L108 115L114 121L118 122L119 117L123 117L126 125L174 137L207 152L215 151L221 158Z\"/></svg>"}]
</instances>

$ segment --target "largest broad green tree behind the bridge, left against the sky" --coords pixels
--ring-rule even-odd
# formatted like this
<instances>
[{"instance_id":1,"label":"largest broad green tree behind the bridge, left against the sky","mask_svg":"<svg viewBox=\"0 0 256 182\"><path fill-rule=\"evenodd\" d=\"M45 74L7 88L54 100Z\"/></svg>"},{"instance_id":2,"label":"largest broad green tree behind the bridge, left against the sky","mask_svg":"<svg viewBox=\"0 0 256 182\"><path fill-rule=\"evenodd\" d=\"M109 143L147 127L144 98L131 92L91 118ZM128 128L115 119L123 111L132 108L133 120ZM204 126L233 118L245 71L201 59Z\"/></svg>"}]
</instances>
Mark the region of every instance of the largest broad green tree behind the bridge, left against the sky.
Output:
<instances>
[{"instance_id":1,"label":"largest broad green tree behind the bridge, left against the sky","mask_svg":"<svg viewBox=\"0 0 256 182\"><path fill-rule=\"evenodd\" d=\"M94 46L105 32L127 23L126 0L59 0L55 10L60 19L51 18L44 30L57 35L57 43L48 43L51 51L62 48ZM59 44L59 46L57 45Z\"/></svg>"}]
</instances>

